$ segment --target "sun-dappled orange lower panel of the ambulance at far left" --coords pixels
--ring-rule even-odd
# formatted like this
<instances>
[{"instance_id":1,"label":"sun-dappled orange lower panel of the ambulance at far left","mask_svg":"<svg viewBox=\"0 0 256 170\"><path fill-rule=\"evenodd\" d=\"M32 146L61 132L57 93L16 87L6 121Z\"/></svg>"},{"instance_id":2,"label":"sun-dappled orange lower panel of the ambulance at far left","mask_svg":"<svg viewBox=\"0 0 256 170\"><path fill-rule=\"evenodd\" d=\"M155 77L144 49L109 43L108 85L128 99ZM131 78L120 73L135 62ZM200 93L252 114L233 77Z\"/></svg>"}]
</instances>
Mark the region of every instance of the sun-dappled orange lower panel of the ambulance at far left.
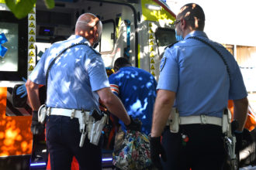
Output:
<instances>
[{"instance_id":1,"label":"sun-dappled orange lower panel of the ambulance at far left","mask_svg":"<svg viewBox=\"0 0 256 170\"><path fill-rule=\"evenodd\" d=\"M0 156L29 155L32 152L31 116L5 115L6 87L0 87Z\"/></svg>"}]
</instances>

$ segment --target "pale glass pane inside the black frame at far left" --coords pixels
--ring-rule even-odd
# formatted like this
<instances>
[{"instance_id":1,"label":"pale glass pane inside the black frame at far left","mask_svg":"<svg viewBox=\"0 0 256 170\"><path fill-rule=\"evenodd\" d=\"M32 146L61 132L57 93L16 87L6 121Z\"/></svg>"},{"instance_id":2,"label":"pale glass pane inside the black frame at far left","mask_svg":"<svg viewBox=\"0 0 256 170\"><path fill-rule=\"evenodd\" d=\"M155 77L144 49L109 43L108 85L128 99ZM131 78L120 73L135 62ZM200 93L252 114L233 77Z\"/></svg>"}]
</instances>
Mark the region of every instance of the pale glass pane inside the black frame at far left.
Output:
<instances>
[{"instance_id":1,"label":"pale glass pane inside the black frame at far left","mask_svg":"<svg viewBox=\"0 0 256 170\"><path fill-rule=\"evenodd\" d=\"M18 71L18 24L0 22L0 33L3 33L1 49L7 48L5 55L0 57L0 71Z\"/></svg>"}]
</instances>

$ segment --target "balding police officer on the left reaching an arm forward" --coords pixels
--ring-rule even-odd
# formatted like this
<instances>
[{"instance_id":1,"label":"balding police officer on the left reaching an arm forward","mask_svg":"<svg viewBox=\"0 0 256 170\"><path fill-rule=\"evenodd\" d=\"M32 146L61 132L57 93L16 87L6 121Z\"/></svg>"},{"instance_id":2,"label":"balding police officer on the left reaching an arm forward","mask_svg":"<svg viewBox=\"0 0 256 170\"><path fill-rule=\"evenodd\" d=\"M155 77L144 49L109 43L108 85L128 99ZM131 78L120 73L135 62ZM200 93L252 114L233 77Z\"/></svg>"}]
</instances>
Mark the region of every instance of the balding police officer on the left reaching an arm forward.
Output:
<instances>
[{"instance_id":1,"label":"balding police officer on the left reaching an arm forward","mask_svg":"<svg viewBox=\"0 0 256 170\"><path fill-rule=\"evenodd\" d=\"M99 111L99 98L112 114L126 124L126 128L140 126L140 122L129 117L122 102L110 90L101 55L92 49L99 42L101 32L102 22L99 18L91 13L82 14L76 23L75 35L56 42L47 49L26 82L29 103L33 108L33 134L40 128L37 121L37 110L40 107L38 87L47 82L47 107L50 108L50 116L47 118L46 136L53 170L71 169L73 156L77 158L80 169L102 168L100 144L92 145L85 138L83 146L79 147L81 125L78 117L85 111ZM76 43L84 44L67 49L54 62L46 80L50 62L61 51Z\"/></svg>"}]
</instances>

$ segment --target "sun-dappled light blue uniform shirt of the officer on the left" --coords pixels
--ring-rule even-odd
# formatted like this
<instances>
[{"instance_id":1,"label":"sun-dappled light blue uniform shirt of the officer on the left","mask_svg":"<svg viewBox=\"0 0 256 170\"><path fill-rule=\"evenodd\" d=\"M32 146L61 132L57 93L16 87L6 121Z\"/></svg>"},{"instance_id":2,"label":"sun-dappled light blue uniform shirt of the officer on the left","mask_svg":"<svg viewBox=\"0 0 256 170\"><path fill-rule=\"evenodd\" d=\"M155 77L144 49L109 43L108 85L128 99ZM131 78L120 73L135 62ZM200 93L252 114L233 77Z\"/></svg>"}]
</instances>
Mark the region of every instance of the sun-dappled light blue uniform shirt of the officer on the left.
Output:
<instances>
[{"instance_id":1,"label":"sun-dappled light blue uniform shirt of the officer on the left","mask_svg":"<svg viewBox=\"0 0 256 170\"><path fill-rule=\"evenodd\" d=\"M46 72L50 62L62 50L75 43L85 42L61 55L50 69L47 84L47 107L99 110L96 90L109 87L102 57L81 36L54 43L43 53L29 79L34 83L46 83Z\"/></svg>"}]
</instances>

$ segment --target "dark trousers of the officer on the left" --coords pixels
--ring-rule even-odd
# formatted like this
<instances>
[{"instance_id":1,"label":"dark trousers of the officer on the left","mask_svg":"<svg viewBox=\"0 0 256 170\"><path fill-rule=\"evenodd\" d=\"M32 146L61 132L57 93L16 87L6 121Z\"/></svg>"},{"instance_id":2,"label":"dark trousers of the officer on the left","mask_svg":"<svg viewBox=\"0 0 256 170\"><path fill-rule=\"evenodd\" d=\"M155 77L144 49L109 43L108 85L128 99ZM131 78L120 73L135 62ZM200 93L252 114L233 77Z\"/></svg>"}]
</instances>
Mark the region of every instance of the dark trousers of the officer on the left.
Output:
<instances>
[{"instance_id":1,"label":"dark trousers of the officer on the left","mask_svg":"<svg viewBox=\"0 0 256 170\"><path fill-rule=\"evenodd\" d=\"M73 156L78 160L80 170L102 169L101 147L92 145L87 138L83 147L79 147L78 118L51 115L47 118L46 130L52 170L70 170Z\"/></svg>"}]
</instances>

